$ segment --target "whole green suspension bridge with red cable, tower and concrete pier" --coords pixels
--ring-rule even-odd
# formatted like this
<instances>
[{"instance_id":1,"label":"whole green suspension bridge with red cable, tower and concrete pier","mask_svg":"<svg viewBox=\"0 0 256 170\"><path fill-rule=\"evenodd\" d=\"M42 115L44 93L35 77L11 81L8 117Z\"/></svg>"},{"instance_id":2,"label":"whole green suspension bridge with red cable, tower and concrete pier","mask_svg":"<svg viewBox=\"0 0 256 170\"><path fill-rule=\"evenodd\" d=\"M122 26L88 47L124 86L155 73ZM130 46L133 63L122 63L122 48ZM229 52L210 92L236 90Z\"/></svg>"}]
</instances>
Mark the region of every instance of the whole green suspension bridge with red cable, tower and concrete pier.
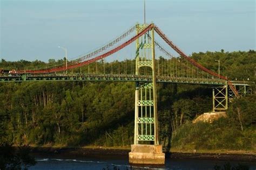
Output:
<instances>
[{"instance_id":1,"label":"whole green suspension bridge with red cable, tower and concrete pier","mask_svg":"<svg viewBox=\"0 0 256 170\"><path fill-rule=\"evenodd\" d=\"M156 40L156 36L165 46ZM126 48L134 49L134 46L136 51L133 51L131 59L120 62L118 68L113 68L113 62L106 62L107 59L120 59L120 55L127 52ZM82 68L86 72L82 73ZM69 73L66 73L67 70ZM164 164L165 156L158 139L156 83L212 86L213 111L227 110L231 98L250 93L247 82L229 80L200 65L153 23L136 24L104 46L70 60L67 64L42 69L12 70L0 76L0 82L34 81L136 82L134 145L129 153L132 164Z\"/></svg>"}]
</instances>

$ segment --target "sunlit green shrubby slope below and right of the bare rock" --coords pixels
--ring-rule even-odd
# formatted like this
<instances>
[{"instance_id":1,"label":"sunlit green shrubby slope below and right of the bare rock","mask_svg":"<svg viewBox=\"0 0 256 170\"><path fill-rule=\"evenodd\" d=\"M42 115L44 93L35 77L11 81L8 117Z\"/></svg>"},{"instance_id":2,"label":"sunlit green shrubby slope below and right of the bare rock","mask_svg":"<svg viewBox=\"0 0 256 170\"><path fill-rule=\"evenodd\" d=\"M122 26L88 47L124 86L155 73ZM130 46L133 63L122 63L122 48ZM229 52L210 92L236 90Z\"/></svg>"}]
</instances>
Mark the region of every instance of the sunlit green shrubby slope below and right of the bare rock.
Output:
<instances>
[{"instance_id":1,"label":"sunlit green shrubby slope below and right of the bare rock","mask_svg":"<svg viewBox=\"0 0 256 170\"><path fill-rule=\"evenodd\" d=\"M186 122L174 131L172 147L181 150L252 150L256 147L256 95L234 99L227 118L212 124Z\"/></svg>"}]
</instances>

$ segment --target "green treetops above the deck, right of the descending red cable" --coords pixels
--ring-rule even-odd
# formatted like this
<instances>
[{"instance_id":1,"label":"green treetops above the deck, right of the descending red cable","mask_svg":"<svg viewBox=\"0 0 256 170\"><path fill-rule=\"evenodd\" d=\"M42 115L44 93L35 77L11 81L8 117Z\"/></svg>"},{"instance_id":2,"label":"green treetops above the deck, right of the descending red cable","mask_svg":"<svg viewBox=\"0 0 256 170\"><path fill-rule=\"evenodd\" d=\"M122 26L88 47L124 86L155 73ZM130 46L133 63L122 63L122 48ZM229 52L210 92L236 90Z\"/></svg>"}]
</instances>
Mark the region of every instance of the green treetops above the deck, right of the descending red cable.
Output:
<instances>
[{"instance_id":1,"label":"green treetops above the deck, right of the descending red cable","mask_svg":"<svg viewBox=\"0 0 256 170\"><path fill-rule=\"evenodd\" d=\"M231 80L256 81L256 51L248 52L206 52L193 53L191 56L206 68L218 73L218 62L220 60L220 74L229 77Z\"/></svg>"}]
</instances>

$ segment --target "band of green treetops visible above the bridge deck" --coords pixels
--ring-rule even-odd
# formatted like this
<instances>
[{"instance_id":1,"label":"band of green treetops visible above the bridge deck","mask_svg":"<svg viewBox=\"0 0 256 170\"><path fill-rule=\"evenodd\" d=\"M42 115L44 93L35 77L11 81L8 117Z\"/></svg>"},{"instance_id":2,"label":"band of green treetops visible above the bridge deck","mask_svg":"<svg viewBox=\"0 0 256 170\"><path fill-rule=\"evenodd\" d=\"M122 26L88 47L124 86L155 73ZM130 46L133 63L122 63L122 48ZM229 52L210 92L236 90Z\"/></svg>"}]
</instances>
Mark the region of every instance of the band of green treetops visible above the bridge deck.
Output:
<instances>
[{"instance_id":1,"label":"band of green treetops visible above the bridge deck","mask_svg":"<svg viewBox=\"0 0 256 170\"><path fill-rule=\"evenodd\" d=\"M255 82L256 77L256 51L248 52L199 52L192 53L191 58L201 65L218 73L218 61L220 61L220 74L227 76L231 80ZM68 65L75 64L75 61L68 61ZM83 74L135 74L135 60L126 59L122 61L100 60L79 68L68 70L68 73ZM47 69L52 67L65 66L65 58L60 60L49 59L49 62L43 61L6 61L0 62L0 69ZM65 73L65 72L64 72ZM151 69L142 68L140 74L151 75ZM191 63L181 57L163 58L159 56L156 60L156 74L160 76L180 76L180 77L204 77L212 79L212 76L206 74Z\"/></svg>"}]
</instances>

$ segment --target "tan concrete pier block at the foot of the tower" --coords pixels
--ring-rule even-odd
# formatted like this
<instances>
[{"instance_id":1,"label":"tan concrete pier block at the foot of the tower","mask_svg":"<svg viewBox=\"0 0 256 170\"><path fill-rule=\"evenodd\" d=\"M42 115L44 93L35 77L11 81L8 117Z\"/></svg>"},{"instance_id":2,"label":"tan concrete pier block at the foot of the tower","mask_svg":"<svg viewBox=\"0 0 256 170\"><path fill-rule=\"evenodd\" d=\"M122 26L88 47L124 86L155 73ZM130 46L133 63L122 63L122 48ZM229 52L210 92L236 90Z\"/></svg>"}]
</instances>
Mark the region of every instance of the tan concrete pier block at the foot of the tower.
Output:
<instances>
[{"instance_id":1,"label":"tan concrete pier block at the foot of the tower","mask_svg":"<svg viewBox=\"0 0 256 170\"><path fill-rule=\"evenodd\" d=\"M131 145L130 164L164 165L162 145Z\"/></svg>"}]
</instances>

